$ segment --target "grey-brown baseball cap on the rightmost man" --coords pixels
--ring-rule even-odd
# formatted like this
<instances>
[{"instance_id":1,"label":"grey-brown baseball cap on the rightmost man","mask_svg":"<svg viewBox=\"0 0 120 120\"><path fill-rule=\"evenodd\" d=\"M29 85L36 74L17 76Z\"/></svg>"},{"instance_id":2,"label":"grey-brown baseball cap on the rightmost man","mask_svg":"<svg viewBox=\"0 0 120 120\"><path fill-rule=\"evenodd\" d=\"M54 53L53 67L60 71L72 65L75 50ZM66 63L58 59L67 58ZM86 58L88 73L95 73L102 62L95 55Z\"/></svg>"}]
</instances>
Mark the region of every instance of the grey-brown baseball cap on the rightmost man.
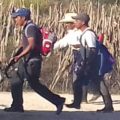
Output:
<instances>
[{"instance_id":1,"label":"grey-brown baseball cap on the rightmost man","mask_svg":"<svg viewBox=\"0 0 120 120\"><path fill-rule=\"evenodd\" d=\"M79 13L77 16L73 16L72 18L75 19L75 20L84 21L85 23L88 23L89 20L90 20L89 15L86 14L86 13Z\"/></svg>"}]
</instances>

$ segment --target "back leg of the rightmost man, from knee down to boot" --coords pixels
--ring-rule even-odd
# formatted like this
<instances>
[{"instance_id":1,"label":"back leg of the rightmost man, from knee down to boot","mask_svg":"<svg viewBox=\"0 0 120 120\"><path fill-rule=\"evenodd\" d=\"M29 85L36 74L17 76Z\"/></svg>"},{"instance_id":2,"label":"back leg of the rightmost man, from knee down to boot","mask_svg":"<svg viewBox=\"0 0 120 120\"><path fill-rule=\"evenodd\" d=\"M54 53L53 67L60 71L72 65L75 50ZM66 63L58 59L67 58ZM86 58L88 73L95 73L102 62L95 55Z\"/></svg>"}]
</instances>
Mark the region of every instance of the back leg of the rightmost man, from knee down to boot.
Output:
<instances>
[{"instance_id":1,"label":"back leg of the rightmost man, from knee down to boot","mask_svg":"<svg viewBox=\"0 0 120 120\"><path fill-rule=\"evenodd\" d=\"M111 112L111 111L114 111L111 95L108 91L108 88L105 84L105 81L104 81L103 77L100 77L100 79L101 79L100 80L100 93L102 95L105 107L101 110L97 110L97 112Z\"/></svg>"}]
</instances>

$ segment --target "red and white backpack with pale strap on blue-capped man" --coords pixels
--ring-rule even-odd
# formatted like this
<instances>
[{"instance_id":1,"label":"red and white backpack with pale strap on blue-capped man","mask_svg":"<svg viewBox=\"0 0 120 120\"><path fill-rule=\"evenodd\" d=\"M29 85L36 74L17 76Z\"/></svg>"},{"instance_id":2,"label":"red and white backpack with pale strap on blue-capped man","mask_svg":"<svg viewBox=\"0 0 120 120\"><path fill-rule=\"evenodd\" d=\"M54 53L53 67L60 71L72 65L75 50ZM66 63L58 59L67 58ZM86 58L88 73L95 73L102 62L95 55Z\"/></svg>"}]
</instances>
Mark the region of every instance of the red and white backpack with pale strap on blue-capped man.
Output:
<instances>
[{"instance_id":1,"label":"red and white backpack with pale strap on blue-capped man","mask_svg":"<svg viewBox=\"0 0 120 120\"><path fill-rule=\"evenodd\" d=\"M32 25L35 26L35 24L32 22L27 25L25 29L25 34L28 27ZM57 36L53 31L50 31L45 27L39 27L39 31L40 31L40 35L42 33L42 39L40 37L40 41L42 41L42 48L40 48L41 54L43 56L47 56L51 52L53 44L57 41Z\"/></svg>"}]
</instances>

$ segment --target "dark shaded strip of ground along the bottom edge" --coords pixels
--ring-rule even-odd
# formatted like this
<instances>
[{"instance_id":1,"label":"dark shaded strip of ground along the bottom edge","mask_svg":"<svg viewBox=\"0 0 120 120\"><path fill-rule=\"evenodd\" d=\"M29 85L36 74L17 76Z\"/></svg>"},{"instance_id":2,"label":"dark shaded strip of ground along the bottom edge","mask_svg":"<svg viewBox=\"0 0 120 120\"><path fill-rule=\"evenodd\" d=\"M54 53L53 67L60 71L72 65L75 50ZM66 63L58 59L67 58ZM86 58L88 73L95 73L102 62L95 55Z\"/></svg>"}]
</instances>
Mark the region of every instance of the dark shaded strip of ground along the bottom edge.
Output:
<instances>
[{"instance_id":1,"label":"dark shaded strip of ground along the bottom edge","mask_svg":"<svg viewBox=\"0 0 120 120\"><path fill-rule=\"evenodd\" d=\"M91 111L63 111L56 115L54 111L25 111L8 113L0 110L1 120L120 120L120 111L96 113Z\"/></svg>"}]
</instances>

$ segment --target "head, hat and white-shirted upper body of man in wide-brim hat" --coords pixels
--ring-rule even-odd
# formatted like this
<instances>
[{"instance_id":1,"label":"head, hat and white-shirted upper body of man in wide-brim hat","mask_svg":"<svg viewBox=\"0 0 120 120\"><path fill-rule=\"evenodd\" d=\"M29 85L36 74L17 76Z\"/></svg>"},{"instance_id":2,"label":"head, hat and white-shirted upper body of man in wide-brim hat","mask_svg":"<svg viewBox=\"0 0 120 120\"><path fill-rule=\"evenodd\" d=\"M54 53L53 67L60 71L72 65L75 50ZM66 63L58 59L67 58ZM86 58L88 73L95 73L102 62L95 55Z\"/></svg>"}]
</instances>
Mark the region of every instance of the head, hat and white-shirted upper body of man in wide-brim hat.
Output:
<instances>
[{"instance_id":1,"label":"head, hat and white-shirted upper body of man in wide-brim hat","mask_svg":"<svg viewBox=\"0 0 120 120\"><path fill-rule=\"evenodd\" d=\"M57 41L54 44L53 49L61 49L67 46L74 46L79 45L79 39L81 31L75 29L75 20L72 18L72 16L76 16L76 13L66 13L64 18L60 20L60 23L64 24L64 27L66 29L66 34L63 38L61 38L59 41Z\"/></svg>"}]
</instances>

